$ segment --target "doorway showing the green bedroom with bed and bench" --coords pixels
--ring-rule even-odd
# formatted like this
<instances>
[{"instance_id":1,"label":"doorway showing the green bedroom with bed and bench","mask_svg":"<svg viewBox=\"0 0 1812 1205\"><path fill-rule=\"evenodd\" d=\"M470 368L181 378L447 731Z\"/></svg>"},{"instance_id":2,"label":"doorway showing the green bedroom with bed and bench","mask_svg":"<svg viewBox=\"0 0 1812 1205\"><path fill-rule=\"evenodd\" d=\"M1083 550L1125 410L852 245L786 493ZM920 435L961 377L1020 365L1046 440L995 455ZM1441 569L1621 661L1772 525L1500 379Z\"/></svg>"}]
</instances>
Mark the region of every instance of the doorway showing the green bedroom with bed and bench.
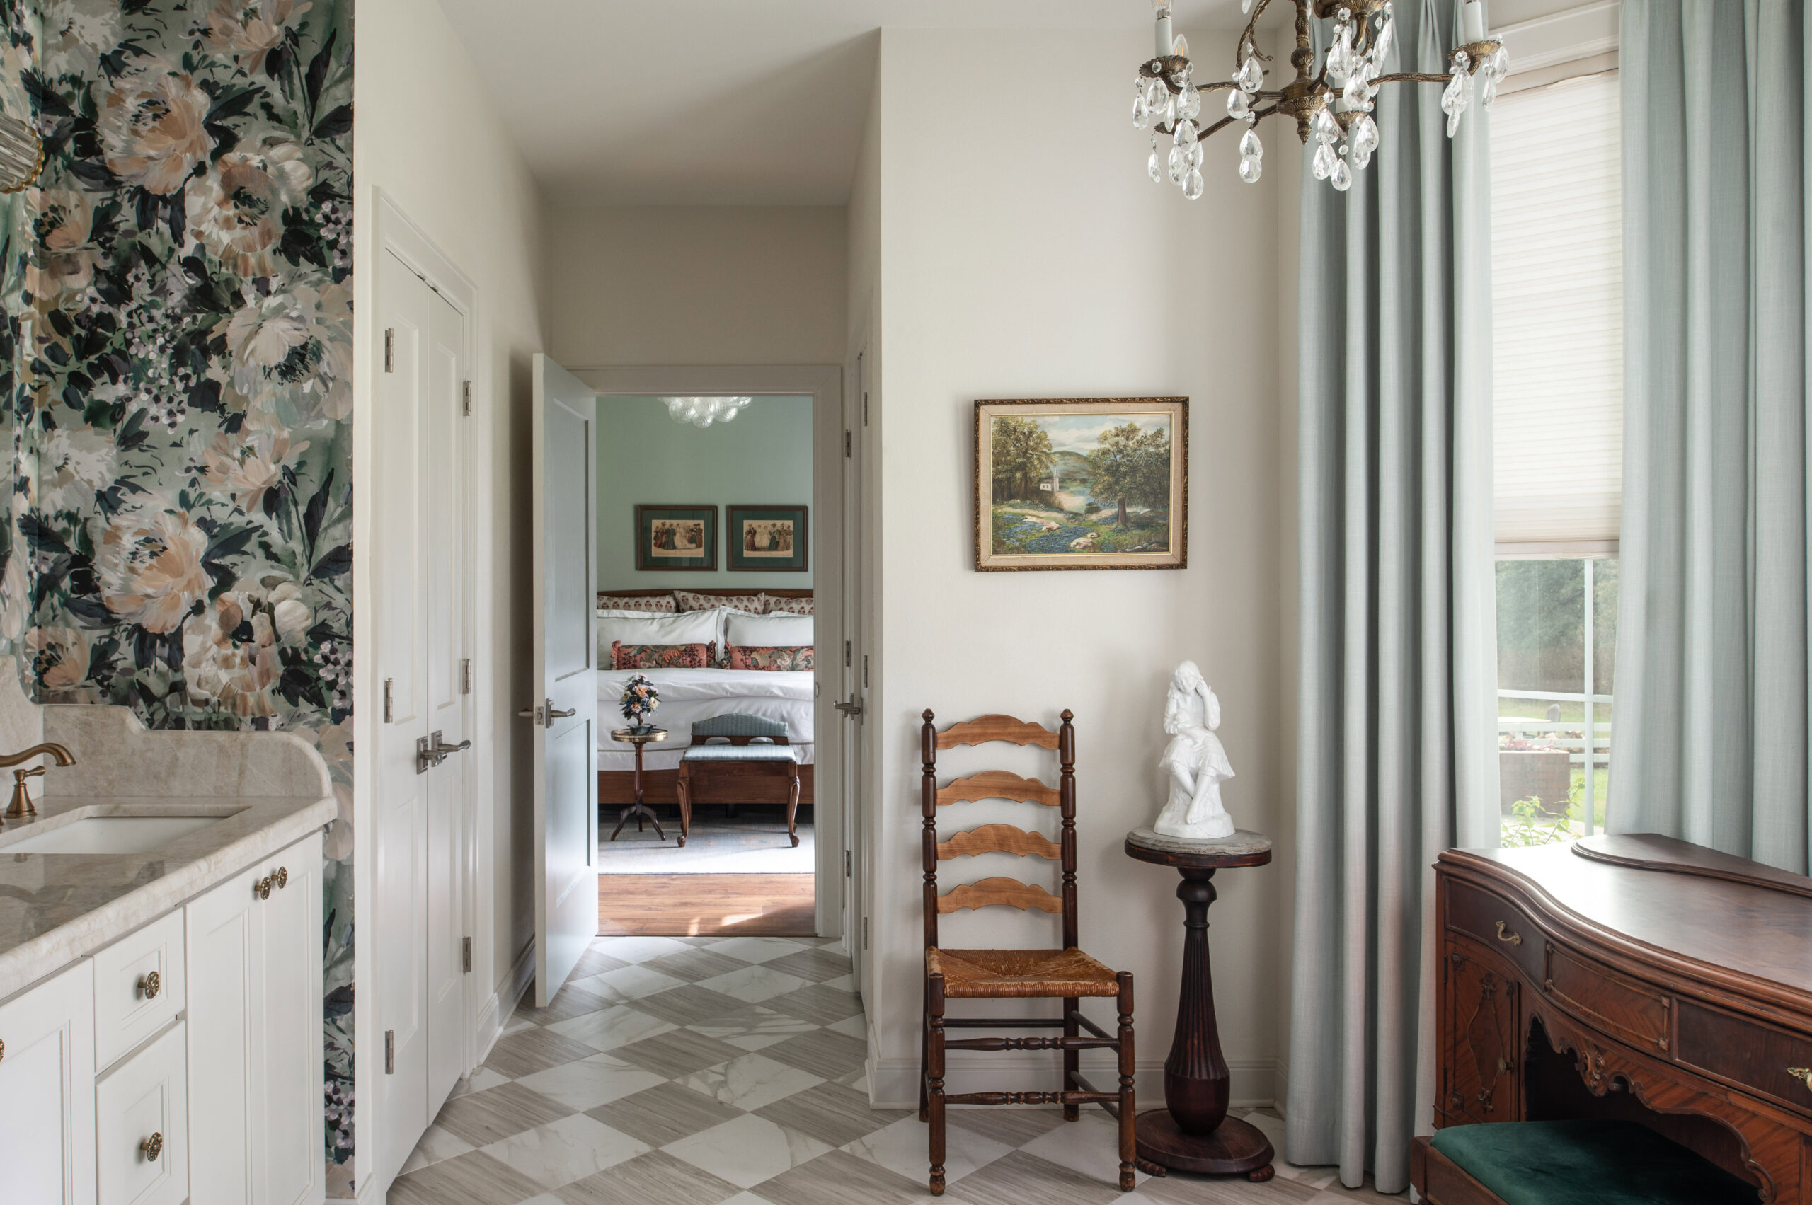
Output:
<instances>
[{"instance_id":1,"label":"doorway showing the green bedroom with bed and bench","mask_svg":"<svg viewBox=\"0 0 1812 1205\"><path fill-rule=\"evenodd\" d=\"M824 737L844 649L843 373L574 375L598 393L598 931L841 935L850 859ZM708 404L669 399L750 400L703 424ZM699 643L710 665L692 663ZM638 676L660 696L643 719L665 730L640 745L640 808L638 747L612 736ZM737 736L745 723L759 732ZM712 756L685 757L694 743Z\"/></svg>"}]
</instances>

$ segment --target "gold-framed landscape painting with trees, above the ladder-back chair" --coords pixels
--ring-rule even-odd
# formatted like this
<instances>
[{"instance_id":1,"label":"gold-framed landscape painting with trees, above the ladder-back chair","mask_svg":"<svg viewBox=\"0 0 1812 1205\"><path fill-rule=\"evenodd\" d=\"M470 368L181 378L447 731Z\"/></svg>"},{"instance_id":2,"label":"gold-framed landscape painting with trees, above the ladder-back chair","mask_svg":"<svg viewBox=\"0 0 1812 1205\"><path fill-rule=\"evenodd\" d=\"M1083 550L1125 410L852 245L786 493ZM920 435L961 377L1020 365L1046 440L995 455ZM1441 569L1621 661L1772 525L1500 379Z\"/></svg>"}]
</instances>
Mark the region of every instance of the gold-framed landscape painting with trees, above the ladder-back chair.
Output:
<instances>
[{"instance_id":1,"label":"gold-framed landscape painting with trees, above the ladder-back chair","mask_svg":"<svg viewBox=\"0 0 1812 1205\"><path fill-rule=\"evenodd\" d=\"M1189 564L1189 399L975 402L975 567Z\"/></svg>"}]
</instances>

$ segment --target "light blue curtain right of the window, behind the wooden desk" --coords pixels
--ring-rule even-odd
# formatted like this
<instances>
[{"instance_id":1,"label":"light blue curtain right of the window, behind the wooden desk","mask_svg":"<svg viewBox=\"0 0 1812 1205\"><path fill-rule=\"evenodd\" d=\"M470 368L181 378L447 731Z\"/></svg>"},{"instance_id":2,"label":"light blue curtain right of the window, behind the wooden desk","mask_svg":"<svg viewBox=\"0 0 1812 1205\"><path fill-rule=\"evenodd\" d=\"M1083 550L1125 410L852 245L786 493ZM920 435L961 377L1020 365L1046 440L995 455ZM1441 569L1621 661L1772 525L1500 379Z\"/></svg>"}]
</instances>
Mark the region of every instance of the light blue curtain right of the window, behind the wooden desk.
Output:
<instances>
[{"instance_id":1,"label":"light blue curtain right of the window, behind the wooden desk","mask_svg":"<svg viewBox=\"0 0 1812 1205\"><path fill-rule=\"evenodd\" d=\"M1807 870L1807 29L1624 4L1613 832Z\"/></svg>"}]
</instances>

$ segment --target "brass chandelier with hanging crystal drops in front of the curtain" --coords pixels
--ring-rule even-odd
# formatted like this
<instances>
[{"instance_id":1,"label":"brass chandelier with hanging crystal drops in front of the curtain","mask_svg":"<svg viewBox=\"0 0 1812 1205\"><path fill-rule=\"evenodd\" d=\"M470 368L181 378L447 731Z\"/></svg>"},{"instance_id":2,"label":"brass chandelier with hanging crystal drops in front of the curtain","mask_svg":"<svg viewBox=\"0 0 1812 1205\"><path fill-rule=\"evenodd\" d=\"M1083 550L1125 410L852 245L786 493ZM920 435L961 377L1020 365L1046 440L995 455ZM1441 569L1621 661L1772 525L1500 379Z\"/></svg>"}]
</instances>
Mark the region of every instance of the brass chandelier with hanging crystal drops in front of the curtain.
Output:
<instances>
[{"instance_id":1,"label":"brass chandelier with hanging crystal drops in front of the curtain","mask_svg":"<svg viewBox=\"0 0 1812 1205\"><path fill-rule=\"evenodd\" d=\"M1384 72L1384 56L1395 34L1392 0L1290 0L1296 5L1296 51L1290 65L1296 78L1279 91L1265 91L1265 62L1254 36L1258 18L1270 0L1239 0L1239 11L1250 13L1239 45L1234 51L1234 78L1216 83L1198 83L1189 60L1189 42L1171 33L1171 0L1152 0L1158 16L1156 56L1138 69L1132 98L1132 127L1151 129L1151 178L1167 178L1194 201L1201 196L1201 140L1225 125L1243 125L1239 136L1239 179L1258 183L1265 170L1265 147L1258 140L1259 118L1274 112L1296 118L1296 134L1308 145L1316 140L1310 169L1316 179L1328 179L1341 192L1354 187L1354 172L1363 170L1377 150L1377 121L1372 107L1377 91L1386 83L1446 83L1441 111L1448 114L1448 138L1460 127L1460 114L1479 100L1489 109L1497 100L1497 85L1509 71L1504 45L1484 33L1484 5L1466 0L1462 7L1462 36L1466 42L1448 54L1448 74L1415 71ZM1308 18L1332 16L1334 31L1321 67L1316 69L1316 51L1308 40ZM1477 78L1475 78L1477 76ZM1207 129L1201 127L1203 92L1227 92L1227 116Z\"/></svg>"}]
</instances>

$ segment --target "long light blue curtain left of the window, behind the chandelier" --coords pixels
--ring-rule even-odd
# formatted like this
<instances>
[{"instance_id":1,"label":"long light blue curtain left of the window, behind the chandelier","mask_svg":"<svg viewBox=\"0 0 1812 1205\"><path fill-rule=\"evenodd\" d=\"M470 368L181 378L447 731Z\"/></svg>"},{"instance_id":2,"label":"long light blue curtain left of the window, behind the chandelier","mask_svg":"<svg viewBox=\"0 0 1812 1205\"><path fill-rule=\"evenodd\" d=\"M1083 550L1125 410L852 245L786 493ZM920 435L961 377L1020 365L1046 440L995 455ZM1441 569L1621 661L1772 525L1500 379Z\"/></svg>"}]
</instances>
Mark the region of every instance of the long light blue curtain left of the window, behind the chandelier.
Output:
<instances>
[{"instance_id":1,"label":"long light blue curtain left of the window, behind the chandelier","mask_svg":"<svg viewBox=\"0 0 1812 1205\"><path fill-rule=\"evenodd\" d=\"M1459 0L1397 0L1446 71ZM1296 948L1287 1158L1410 1181L1435 855L1495 846L1488 121L1386 85L1345 196L1303 172ZM1424 982L1428 980L1428 982Z\"/></svg>"}]
</instances>

